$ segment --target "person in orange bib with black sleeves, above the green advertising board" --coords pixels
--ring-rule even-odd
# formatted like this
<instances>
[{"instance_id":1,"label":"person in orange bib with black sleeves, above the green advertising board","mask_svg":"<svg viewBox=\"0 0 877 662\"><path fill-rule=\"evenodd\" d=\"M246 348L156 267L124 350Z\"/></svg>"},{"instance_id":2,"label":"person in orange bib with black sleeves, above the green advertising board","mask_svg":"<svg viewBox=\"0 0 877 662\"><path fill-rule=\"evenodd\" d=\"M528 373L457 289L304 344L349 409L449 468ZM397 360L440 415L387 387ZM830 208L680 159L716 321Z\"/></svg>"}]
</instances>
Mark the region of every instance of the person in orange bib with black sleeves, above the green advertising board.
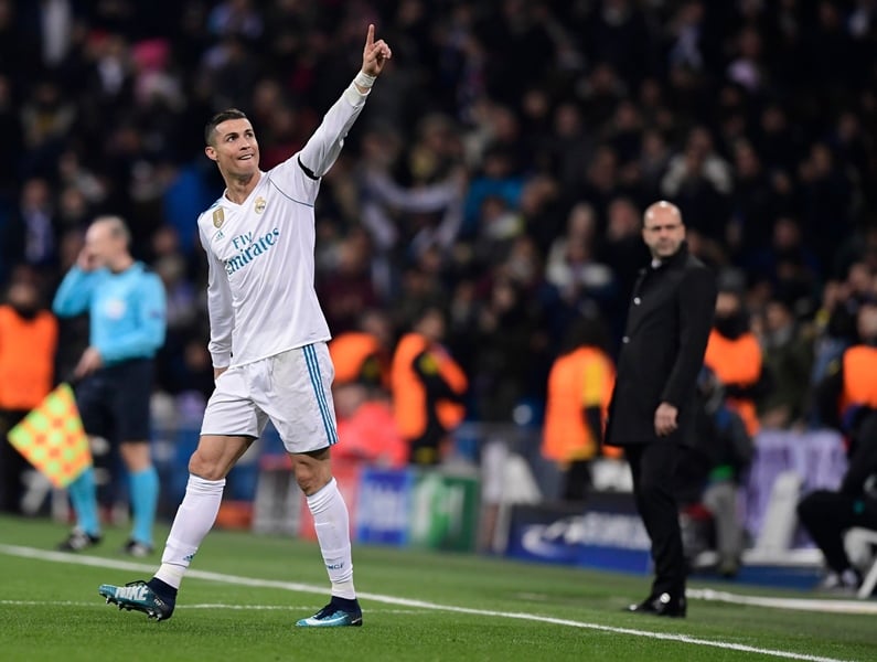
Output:
<instances>
[{"instance_id":1,"label":"person in orange bib with black sleeves, above the green advertising board","mask_svg":"<svg viewBox=\"0 0 877 662\"><path fill-rule=\"evenodd\" d=\"M393 410L410 465L441 461L448 433L462 423L469 382L441 344L445 312L429 306L396 345L391 371Z\"/></svg>"}]
</instances>

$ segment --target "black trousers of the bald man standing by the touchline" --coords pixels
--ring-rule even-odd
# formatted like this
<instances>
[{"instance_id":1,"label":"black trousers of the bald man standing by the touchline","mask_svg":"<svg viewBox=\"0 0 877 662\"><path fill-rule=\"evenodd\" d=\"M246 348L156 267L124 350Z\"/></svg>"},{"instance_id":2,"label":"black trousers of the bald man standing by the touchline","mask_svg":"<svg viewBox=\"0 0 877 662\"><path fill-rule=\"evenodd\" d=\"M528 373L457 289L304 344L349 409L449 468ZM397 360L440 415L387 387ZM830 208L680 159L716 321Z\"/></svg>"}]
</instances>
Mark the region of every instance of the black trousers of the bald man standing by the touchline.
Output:
<instances>
[{"instance_id":1,"label":"black trousers of the bald man standing by the touchline","mask_svg":"<svg viewBox=\"0 0 877 662\"><path fill-rule=\"evenodd\" d=\"M681 456L682 449L665 440L624 447L633 477L637 510L652 541L653 597L663 592L674 597L685 595L687 568L674 481Z\"/></svg>"}]
</instances>

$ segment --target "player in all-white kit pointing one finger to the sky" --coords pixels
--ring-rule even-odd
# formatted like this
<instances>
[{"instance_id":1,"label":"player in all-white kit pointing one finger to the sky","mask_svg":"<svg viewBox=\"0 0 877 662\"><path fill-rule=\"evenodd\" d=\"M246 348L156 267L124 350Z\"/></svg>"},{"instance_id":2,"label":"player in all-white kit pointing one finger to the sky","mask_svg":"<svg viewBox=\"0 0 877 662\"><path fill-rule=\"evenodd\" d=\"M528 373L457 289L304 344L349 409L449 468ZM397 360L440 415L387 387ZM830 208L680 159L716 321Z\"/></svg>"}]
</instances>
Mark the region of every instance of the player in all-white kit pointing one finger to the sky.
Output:
<instances>
[{"instance_id":1,"label":"player in all-white kit pointing one finger to the sky","mask_svg":"<svg viewBox=\"0 0 877 662\"><path fill-rule=\"evenodd\" d=\"M330 333L313 288L313 204L320 178L338 158L391 55L368 25L360 73L302 150L268 172L259 170L259 146L243 113L224 110L207 122L205 152L226 185L197 221L210 265L216 387L161 566L146 583L101 585L98 592L108 602L158 620L171 617L183 574L216 519L225 477L270 418L307 496L332 584L330 602L297 624L362 624L347 509L329 457L338 436Z\"/></svg>"}]
</instances>

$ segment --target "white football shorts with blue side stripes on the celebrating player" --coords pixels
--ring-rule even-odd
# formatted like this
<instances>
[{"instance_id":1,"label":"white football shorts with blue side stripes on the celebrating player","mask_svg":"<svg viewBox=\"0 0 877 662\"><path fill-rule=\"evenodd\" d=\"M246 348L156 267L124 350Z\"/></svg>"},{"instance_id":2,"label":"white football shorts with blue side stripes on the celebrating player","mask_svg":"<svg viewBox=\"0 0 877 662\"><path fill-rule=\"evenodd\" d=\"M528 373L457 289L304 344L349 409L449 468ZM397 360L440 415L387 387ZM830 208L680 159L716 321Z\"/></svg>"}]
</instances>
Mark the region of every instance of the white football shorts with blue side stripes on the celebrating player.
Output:
<instances>
[{"instance_id":1,"label":"white football shorts with blue side stripes on the celebrating player","mask_svg":"<svg viewBox=\"0 0 877 662\"><path fill-rule=\"evenodd\" d=\"M289 452L332 446L334 375L324 342L229 367L216 380L201 434L256 438L270 419Z\"/></svg>"}]
</instances>

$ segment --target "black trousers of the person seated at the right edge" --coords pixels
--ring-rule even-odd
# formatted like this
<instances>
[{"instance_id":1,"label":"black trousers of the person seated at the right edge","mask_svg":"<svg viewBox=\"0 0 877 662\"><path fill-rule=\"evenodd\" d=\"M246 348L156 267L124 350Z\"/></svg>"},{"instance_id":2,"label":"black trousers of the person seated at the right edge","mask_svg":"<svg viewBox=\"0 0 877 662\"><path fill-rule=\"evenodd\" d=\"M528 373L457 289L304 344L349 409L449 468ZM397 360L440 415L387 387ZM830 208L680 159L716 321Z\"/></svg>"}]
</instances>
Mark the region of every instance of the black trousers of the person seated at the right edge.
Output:
<instances>
[{"instance_id":1,"label":"black trousers of the person seated at the right edge","mask_svg":"<svg viewBox=\"0 0 877 662\"><path fill-rule=\"evenodd\" d=\"M843 573L851 566L844 548L847 530L854 526L877 530L877 503L843 492L811 492L798 504L798 516L825 556L826 565L835 573Z\"/></svg>"}]
</instances>

